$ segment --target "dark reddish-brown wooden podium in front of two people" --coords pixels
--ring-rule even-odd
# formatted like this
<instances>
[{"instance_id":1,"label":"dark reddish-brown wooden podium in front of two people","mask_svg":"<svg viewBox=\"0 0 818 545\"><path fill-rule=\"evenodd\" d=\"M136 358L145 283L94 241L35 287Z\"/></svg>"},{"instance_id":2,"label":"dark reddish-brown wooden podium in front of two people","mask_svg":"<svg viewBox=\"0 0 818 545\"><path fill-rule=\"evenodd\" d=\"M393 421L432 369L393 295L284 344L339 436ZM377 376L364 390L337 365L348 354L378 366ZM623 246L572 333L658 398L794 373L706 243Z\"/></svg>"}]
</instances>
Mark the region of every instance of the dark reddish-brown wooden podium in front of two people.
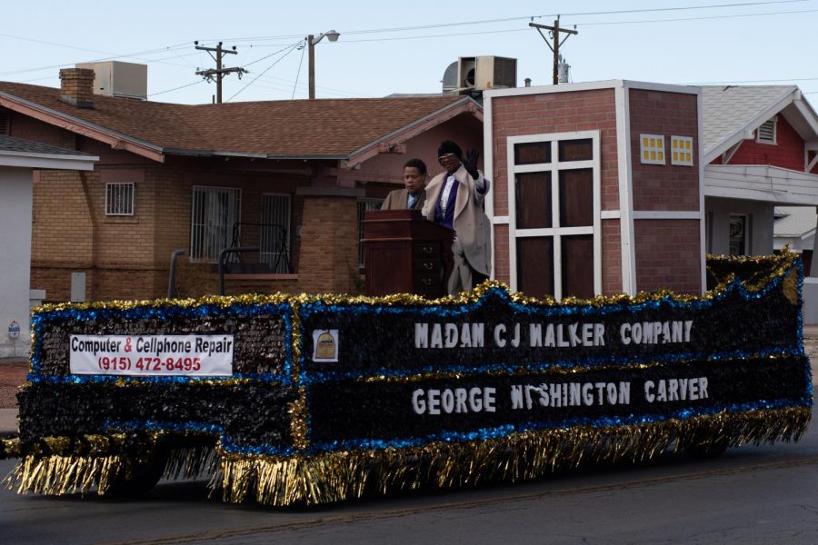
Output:
<instances>
[{"instance_id":1,"label":"dark reddish-brown wooden podium in front of two people","mask_svg":"<svg viewBox=\"0 0 818 545\"><path fill-rule=\"evenodd\" d=\"M415 293L430 299L446 295L453 233L426 220L419 210L364 213L366 294Z\"/></svg>"}]
</instances>

